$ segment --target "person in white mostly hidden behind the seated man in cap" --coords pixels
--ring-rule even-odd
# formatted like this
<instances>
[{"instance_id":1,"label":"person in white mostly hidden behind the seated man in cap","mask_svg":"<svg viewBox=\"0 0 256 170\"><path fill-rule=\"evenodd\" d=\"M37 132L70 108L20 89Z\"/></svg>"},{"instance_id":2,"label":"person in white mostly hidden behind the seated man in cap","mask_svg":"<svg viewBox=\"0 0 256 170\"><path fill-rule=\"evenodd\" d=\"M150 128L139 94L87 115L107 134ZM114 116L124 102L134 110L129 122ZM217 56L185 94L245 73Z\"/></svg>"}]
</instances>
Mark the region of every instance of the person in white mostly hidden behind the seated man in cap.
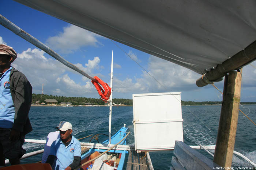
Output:
<instances>
[{"instance_id":1,"label":"person in white mostly hidden behind the seated man in cap","mask_svg":"<svg viewBox=\"0 0 256 170\"><path fill-rule=\"evenodd\" d=\"M42 156L42 163L45 163L47 158L48 158L48 156L49 156L50 147L52 145L52 142L56 141L57 139L60 138L60 131L58 129L60 128L62 123L64 123L64 121L61 121L59 123L59 125L55 127L57 129L57 131L50 132L47 135L47 139L46 139L46 143L45 143L45 147L44 147L44 153L43 153L43 156Z\"/></svg>"}]
</instances>

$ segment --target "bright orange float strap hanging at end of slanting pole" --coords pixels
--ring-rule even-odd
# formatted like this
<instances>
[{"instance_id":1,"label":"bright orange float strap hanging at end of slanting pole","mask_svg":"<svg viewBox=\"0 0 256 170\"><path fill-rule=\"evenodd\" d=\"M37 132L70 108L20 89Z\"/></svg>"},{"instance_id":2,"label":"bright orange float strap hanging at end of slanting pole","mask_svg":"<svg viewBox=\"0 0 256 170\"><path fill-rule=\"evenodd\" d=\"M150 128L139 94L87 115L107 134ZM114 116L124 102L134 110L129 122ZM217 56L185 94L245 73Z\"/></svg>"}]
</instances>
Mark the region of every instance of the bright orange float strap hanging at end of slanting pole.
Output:
<instances>
[{"instance_id":1,"label":"bright orange float strap hanging at end of slanting pole","mask_svg":"<svg viewBox=\"0 0 256 170\"><path fill-rule=\"evenodd\" d=\"M103 82L97 76L94 76L94 79L96 79L98 82L95 82L93 80L91 80L91 82L93 83L93 85L95 86L99 95L101 96L101 100L103 100L104 102L108 102L109 97L111 95L111 88L109 87L109 85L107 83ZM99 84L104 88L104 90L102 89L102 87Z\"/></svg>"}]
</instances>

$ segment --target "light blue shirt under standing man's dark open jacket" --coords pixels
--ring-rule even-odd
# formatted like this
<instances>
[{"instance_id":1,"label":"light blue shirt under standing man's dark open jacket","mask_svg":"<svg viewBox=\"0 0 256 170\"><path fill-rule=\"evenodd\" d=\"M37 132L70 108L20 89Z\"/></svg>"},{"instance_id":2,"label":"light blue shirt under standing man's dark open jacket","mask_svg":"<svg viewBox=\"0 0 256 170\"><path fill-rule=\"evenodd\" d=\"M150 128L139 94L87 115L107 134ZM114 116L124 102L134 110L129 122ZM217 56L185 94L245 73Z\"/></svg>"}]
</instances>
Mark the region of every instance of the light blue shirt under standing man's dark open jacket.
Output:
<instances>
[{"instance_id":1,"label":"light blue shirt under standing man's dark open jacket","mask_svg":"<svg viewBox=\"0 0 256 170\"><path fill-rule=\"evenodd\" d=\"M14 123L14 103L10 90L10 67L0 78L0 127L12 128Z\"/></svg>"}]
</instances>

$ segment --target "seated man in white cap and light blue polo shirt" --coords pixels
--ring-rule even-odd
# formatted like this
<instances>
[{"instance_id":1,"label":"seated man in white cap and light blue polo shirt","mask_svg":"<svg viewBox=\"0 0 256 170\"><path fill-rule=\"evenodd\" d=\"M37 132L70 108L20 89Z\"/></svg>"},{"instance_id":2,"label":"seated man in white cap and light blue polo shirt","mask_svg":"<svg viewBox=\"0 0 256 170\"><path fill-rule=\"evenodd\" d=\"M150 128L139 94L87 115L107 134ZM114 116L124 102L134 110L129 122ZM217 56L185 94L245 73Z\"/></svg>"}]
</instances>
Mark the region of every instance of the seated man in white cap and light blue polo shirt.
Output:
<instances>
[{"instance_id":1,"label":"seated man in white cap and light blue polo shirt","mask_svg":"<svg viewBox=\"0 0 256 170\"><path fill-rule=\"evenodd\" d=\"M52 165L53 170L73 170L80 166L81 145L72 134L72 124L64 122L60 128L60 138L50 147L50 154L46 163ZM56 165L54 165L56 162Z\"/></svg>"}]
</instances>

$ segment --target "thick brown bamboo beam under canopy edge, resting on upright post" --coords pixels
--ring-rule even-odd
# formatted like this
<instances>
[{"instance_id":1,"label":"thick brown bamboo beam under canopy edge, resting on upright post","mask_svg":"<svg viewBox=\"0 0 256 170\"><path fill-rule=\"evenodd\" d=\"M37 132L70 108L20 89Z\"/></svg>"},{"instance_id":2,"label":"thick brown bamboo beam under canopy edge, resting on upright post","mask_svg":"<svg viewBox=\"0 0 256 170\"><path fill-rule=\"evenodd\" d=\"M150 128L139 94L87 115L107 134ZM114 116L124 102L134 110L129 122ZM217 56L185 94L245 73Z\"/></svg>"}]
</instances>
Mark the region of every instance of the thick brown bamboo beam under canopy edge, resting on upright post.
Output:
<instances>
[{"instance_id":1,"label":"thick brown bamboo beam under canopy edge, resting on upright post","mask_svg":"<svg viewBox=\"0 0 256 170\"><path fill-rule=\"evenodd\" d=\"M201 78L196 80L196 85L198 87L206 86L211 82L219 82L222 80L223 76L230 71L237 70L256 59L256 41L246 47L244 50L238 52L230 59L227 59L222 64L218 64L216 69L204 74Z\"/></svg>"}]
</instances>

